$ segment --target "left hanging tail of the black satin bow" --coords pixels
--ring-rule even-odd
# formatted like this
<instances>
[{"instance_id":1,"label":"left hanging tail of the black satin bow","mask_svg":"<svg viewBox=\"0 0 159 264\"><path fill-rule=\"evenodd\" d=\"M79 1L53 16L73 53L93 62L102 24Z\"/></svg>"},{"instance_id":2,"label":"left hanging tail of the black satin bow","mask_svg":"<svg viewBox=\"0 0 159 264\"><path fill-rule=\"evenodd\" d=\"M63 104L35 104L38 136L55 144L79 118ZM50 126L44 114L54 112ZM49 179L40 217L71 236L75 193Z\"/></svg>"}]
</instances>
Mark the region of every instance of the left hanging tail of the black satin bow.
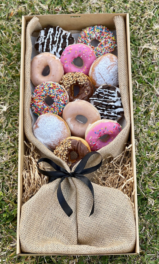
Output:
<instances>
[{"instance_id":1,"label":"left hanging tail of the black satin bow","mask_svg":"<svg viewBox=\"0 0 159 264\"><path fill-rule=\"evenodd\" d=\"M65 177L61 178L61 181L59 182L58 189L57 189L57 198L64 212L68 215L68 217L70 217L73 211L71 207L67 204L67 201L65 200L62 190L61 190L61 182L63 182L64 179Z\"/></svg>"}]
</instances>

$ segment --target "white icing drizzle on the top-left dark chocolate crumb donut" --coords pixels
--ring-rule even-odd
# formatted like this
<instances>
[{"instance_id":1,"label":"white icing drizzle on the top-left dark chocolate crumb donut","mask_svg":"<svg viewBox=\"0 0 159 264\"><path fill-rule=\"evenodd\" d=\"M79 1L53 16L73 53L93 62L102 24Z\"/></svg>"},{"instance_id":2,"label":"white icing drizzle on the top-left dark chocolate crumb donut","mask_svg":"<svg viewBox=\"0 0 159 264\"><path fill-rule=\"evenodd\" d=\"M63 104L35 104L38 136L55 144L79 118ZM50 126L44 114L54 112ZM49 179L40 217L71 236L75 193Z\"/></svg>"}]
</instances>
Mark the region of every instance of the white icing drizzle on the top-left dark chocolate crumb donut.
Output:
<instances>
[{"instance_id":1,"label":"white icing drizzle on the top-left dark chocolate crumb donut","mask_svg":"<svg viewBox=\"0 0 159 264\"><path fill-rule=\"evenodd\" d=\"M62 48L62 43L64 42L62 37L64 35L67 36L65 38L65 40L66 40L66 46L65 47L67 47L69 45L69 38L71 36L71 33L67 32L66 30L57 26L55 29L55 35L54 35L53 27L50 27L48 29L47 36L44 34L45 34L45 31L41 30L39 35L38 35L37 40L35 41L35 44L37 44L37 43L39 44L38 51L40 53L45 52L46 46L49 43L50 53L55 54L58 58L60 58L61 57L60 51L64 49L64 48ZM53 42L55 42L55 44L53 44ZM72 44L75 44L75 40L74 40L74 43L72 43Z\"/></svg>"}]
</instances>

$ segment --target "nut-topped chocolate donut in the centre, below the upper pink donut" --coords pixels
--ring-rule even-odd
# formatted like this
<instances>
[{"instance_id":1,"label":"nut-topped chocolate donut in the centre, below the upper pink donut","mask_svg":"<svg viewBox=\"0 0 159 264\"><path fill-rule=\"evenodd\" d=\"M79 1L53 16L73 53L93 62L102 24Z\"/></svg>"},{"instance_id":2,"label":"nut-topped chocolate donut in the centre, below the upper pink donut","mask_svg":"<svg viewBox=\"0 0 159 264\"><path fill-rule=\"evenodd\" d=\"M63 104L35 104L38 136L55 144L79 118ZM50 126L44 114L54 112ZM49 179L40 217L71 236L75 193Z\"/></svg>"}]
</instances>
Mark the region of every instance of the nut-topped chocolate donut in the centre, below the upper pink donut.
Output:
<instances>
[{"instance_id":1,"label":"nut-topped chocolate donut in the centre, below the upper pink donut","mask_svg":"<svg viewBox=\"0 0 159 264\"><path fill-rule=\"evenodd\" d=\"M68 72L64 74L60 84L67 90L70 102L76 99L89 101L89 97L93 94L92 82L82 72ZM79 92L75 93L76 91Z\"/></svg>"}]
</instances>

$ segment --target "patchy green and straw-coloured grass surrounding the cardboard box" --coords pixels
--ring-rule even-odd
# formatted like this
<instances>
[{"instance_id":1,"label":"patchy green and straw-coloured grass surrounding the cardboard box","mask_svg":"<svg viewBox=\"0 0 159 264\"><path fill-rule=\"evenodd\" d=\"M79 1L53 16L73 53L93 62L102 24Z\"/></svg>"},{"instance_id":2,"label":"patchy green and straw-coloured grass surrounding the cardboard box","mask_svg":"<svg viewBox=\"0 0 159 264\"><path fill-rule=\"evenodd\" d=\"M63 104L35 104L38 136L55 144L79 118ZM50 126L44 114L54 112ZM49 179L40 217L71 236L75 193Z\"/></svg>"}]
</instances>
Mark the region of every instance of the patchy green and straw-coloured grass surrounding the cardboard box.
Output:
<instances>
[{"instance_id":1,"label":"patchy green and straw-coloured grass surrounding the cardboard box","mask_svg":"<svg viewBox=\"0 0 159 264\"><path fill-rule=\"evenodd\" d=\"M159 263L159 1L0 2L0 263ZM140 255L16 255L21 16L129 13Z\"/></svg>"}]
</instances>

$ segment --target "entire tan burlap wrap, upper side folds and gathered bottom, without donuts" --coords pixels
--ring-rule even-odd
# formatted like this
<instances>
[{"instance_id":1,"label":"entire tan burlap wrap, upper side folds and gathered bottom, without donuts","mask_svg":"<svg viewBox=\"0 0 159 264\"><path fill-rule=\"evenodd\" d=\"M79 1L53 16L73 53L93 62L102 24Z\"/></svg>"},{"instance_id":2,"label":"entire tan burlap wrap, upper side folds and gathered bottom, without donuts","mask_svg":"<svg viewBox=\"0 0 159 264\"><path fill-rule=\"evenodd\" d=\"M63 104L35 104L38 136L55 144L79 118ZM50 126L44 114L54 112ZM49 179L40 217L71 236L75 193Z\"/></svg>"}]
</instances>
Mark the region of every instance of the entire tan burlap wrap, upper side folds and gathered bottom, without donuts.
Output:
<instances>
[{"instance_id":1,"label":"entire tan burlap wrap, upper side folds and gathered bottom, without donuts","mask_svg":"<svg viewBox=\"0 0 159 264\"><path fill-rule=\"evenodd\" d=\"M119 87L126 119L125 128L108 146L98 152L105 158L113 157L125 149L130 129L129 85L125 23L122 16L114 18L117 32ZM24 131L35 145L41 157L48 157L70 172L70 168L52 151L40 143L32 131L30 115L30 61L31 35L41 29L37 17L33 17L26 30ZM86 167L97 160L90 158ZM74 171L75 167L72 169ZM87 174L92 181L94 174ZM36 254L115 254L134 250L136 241L135 218L132 204L120 190L92 183L95 193L95 211L89 216L92 195L88 187L78 179L67 178L62 182L62 192L73 210L68 217L57 199L60 179L43 185L21 208L20 243L23 252Z\"/></svg>"}]
</instances>

